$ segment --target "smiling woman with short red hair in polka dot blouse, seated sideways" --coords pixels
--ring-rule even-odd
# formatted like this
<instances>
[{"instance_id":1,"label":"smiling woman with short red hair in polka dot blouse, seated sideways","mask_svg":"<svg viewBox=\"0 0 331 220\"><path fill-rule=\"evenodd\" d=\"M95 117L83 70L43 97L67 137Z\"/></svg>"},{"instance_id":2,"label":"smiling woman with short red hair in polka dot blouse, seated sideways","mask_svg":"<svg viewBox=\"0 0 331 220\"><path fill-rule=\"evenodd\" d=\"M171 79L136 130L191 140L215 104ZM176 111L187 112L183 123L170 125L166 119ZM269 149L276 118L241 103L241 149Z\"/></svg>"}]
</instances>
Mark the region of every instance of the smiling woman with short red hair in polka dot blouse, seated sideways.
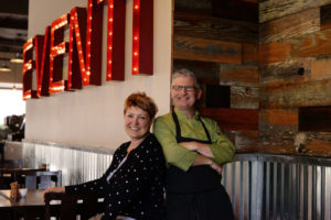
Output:
<instances>
[{"instance_id":1,"label":"smiling woman with short red hair in polka dot blouse, seated sideways","mask_svg":"<svg viewBox=\"0 0 331 220\"><path fill-rule=\"evenodd\" d=\"M106 173L96 180L66 187L51 187L47 193L98 194L105 197L100 219L126 216L137 220L162 220L166 161L162 148L149 132L158 109L145 92L125 101L125 131L130 141L121 144Z\"/></svg>"}]
</instances>

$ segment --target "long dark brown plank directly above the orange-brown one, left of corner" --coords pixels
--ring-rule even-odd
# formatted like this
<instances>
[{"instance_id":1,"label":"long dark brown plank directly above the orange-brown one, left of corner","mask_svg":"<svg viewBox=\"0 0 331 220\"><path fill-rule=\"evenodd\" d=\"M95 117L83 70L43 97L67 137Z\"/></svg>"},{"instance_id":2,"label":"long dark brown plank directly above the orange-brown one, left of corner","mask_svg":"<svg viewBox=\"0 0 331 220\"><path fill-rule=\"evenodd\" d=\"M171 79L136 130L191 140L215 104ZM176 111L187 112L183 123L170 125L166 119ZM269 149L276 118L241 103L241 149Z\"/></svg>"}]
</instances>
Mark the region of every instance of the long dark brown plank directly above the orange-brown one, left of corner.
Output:
<instances>
[{"instance_id":1,"label":"long dark brown plank directly above the orange-brown one, left of corner","mask_svg":"<svg viewBox=\"0 0 331 220\"><path fill-rule=\"evenodd\" d=\"M258 43L258 24L216 16L175 12L173 34L227 41L235 43Z\"/></svg>"}]
</instances>

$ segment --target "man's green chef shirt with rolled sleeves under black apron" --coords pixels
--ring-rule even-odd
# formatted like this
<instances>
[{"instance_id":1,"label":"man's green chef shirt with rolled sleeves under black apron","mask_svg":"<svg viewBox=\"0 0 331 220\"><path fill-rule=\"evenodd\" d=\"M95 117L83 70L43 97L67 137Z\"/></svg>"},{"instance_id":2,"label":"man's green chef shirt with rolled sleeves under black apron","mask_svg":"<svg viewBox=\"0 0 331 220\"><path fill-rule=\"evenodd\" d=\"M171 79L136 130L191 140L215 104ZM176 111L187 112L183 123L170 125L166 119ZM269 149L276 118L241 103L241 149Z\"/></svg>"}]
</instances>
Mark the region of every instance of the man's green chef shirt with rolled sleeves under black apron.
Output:
<instances>
[{"instance_id":1,"label":"man's green chef shirt with rolled sleeves under black apron","mask_svg":"<svg viewBox=\"0 0 331 220\"><path fill-rule=\"evenodd\" d=\"M194 119L188 119L184 113L177 109L174 111L179 119L182 136L207 141L203 125L199 120L200 114L197 111L195 111ZM201 119L212 139L212 144L210 144L214 155L212 160L217 164L232 162L235 154L234 144L221 132L214 120L204 117L201 117ZM168 164L172 164L183 170L188 170L192 166L199 154L177 143L175 124L171 113L157 118L153 124L153 133L162 145Z\"/></svg>"}]
</instances>

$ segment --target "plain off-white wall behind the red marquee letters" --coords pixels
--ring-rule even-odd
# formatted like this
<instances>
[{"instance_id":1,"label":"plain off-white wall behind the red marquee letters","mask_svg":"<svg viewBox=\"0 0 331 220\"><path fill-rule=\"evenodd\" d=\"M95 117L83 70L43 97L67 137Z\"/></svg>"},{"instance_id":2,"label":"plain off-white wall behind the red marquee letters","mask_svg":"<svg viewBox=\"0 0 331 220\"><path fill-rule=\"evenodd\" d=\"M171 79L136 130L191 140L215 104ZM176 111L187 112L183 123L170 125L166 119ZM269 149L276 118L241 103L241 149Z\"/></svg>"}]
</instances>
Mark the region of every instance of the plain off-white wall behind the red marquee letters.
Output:
<instances>
[{"instance_id":1,"label":"plain off-white wall behind the red marquee letters","mask_svg":"<svg viewBox=\"0 0 331 220\"><path fill-rule=\"evenodd\" d=\"M30 0L29 37L44 34L46 25L72 8L86 6L87 0ZM128 141L122 120L124 100L128 95L146 91L157 102L159 114L170 110L172 0L154 0L153 76L132 76L130 72L131 8L132 0L127 0L125 81L104 79L100 87L87 86L75 92L28 100L26 140L116 148ZM103 76L105 69L103 65Z\"/></svg>"}]
</instances>

